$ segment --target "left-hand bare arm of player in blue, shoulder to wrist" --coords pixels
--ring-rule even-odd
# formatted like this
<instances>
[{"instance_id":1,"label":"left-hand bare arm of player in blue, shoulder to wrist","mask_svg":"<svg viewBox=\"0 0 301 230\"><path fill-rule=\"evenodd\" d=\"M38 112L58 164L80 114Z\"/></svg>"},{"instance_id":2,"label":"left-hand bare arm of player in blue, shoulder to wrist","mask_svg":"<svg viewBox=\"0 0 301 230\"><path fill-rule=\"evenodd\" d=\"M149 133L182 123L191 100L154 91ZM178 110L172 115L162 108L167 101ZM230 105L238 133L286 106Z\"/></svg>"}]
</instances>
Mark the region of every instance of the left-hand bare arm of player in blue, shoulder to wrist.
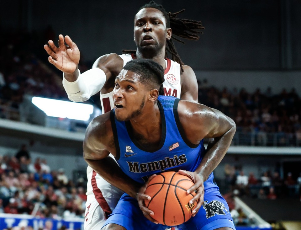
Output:
<instances>
[{"instance_id":1,"label":"left-hand bare arm of player in blue, shoulder to wrist","mask_svg":"<svg viewBox=\"0 0 301 230\"><path fill-rule=\"evenodd\" d=\"M83 158L111 185L136 198L141 184L129 178L109 153L116 156L116 147L112 131L110 112L94 118L87 127L83 142Z\"/></svg>"}]
</instances>

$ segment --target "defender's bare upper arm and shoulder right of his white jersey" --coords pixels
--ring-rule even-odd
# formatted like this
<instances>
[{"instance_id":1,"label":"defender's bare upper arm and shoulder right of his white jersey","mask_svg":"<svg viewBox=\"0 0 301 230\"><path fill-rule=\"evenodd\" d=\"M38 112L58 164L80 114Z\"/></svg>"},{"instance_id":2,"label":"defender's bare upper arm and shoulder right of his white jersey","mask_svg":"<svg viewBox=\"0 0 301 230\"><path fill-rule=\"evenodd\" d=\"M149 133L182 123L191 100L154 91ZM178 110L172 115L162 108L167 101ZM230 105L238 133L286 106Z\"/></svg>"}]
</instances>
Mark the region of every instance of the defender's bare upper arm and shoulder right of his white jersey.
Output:
<instances>
[{"instance_id":1,"label":"defender's bare upper arm and shoulder right of his white jersey","mask_svg":"<svg viewBox=\"0 0 301 230\"><path fill-rule=\"evenodd\" d=\"M198 82L193 69L183 66L181 72L181 99L198 102Z\"/></svg>"}]
</instances>

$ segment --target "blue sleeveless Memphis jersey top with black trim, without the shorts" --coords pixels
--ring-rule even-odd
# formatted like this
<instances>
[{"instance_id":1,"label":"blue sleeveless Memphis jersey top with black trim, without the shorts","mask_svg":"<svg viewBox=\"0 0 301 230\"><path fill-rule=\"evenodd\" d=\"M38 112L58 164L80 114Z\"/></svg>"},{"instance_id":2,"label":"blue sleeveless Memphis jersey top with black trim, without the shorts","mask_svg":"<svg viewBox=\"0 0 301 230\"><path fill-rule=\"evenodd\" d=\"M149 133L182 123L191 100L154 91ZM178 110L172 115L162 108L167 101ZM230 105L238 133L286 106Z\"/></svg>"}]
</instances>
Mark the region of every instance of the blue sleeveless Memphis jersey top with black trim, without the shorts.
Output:
<instances>
[{"instance_id":1,"label":"blue sleeveless Memphis jersey top with black trim, without the shorts","mask_svg":"<svg viewBox=\"0 0 301 230\"><path fill-rule=\"evenodd\" d=\"M116 120L114 110L111 111L116 160L123 172L135 181L144 184L152 174L160 174L167 170L184 169L193 172L200 164L205 153L203 140L198 145L187 140L177 112L179 100L175 97L159 96L162 135L158 148L153 152L135 140L129 121ZM209 187L217 187L213 183L213 174L209 179L206 184L211 184Z\"/></svg>"}]
</instances>

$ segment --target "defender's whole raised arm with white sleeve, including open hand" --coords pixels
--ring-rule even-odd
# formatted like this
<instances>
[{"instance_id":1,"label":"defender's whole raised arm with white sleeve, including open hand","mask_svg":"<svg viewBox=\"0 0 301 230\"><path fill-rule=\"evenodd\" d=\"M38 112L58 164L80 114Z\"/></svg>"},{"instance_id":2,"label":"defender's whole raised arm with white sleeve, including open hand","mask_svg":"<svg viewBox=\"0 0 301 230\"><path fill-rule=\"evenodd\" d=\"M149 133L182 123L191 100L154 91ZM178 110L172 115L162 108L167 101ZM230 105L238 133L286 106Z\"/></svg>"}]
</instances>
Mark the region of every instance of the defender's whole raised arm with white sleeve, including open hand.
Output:
<instances>
[{"instance_id":1,"label":"defender's whole raised arm with white sleeve, including open hand","mask_svg":"<svg viewBox=\"0 0 301 230\"><path fill-rule=\"evenodd\" d=\"M64 39L63 35L59 35L58 47L50 40L44 49L49 55L48 61L64 72L63 86L68 98L75 102L86 101L100 90L102 93L110 92L123 67L123 59L112 53L98 58L93 65L96 68L81 74L78 69L80 52L69 36Z\"/></svg>"}]
</instances>

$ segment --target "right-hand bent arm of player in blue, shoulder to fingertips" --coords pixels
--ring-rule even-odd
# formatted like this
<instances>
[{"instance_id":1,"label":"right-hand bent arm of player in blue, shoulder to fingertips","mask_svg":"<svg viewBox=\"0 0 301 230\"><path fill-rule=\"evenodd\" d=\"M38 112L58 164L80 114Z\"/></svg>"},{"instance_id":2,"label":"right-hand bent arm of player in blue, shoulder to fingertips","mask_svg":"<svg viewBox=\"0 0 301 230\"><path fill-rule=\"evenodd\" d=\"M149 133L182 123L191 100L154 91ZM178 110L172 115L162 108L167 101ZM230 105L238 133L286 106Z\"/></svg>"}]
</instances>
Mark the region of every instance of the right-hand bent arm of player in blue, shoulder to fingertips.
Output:
<instances>
[{"instance_id":1,"label":"right-hand bent arm of player in blue, shoulder to fingertips","mask_svg":"<svg viewBox=\"0 0 301 230\"><path fill-rule=\"evenodd\" d=\"M194 181L187 193L197 190L197 194L191 200L199 200L193 209L194 216L203 204L203 182L224 158L235 134L236 125L230 117L203 104L180 101L178 112L184 132L191 143L198 144L203 138L210 139L198 168L194 172L179 170L179 173L191 177Z\"/></svg>"}]
</instances>

